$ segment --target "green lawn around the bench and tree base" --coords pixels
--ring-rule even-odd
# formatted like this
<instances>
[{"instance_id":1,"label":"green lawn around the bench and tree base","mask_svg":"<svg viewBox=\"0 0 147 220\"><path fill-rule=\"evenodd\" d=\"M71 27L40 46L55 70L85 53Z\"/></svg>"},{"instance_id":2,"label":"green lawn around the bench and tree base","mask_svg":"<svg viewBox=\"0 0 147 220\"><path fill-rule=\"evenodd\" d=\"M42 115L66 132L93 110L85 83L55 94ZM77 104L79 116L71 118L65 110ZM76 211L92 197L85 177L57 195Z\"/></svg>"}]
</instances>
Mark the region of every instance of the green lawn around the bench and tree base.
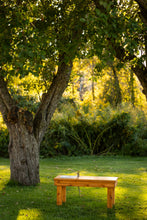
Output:
<instances>
[{"instance_id":1,"label":"green lawn around the bench and tree base","mask_svg":"<svg viewBox=\"0 0 147 220\"><path fill-rule=\"evenodd\" d=\"M9 160L0 158L0 220L147 219L147 158L83 156L41 159L41 183L8 184ZM105 188L67 187L67 202L56 206L53 178L59 174L117 176L116 204L107 210Z\"/></svg>"}]
</instances>

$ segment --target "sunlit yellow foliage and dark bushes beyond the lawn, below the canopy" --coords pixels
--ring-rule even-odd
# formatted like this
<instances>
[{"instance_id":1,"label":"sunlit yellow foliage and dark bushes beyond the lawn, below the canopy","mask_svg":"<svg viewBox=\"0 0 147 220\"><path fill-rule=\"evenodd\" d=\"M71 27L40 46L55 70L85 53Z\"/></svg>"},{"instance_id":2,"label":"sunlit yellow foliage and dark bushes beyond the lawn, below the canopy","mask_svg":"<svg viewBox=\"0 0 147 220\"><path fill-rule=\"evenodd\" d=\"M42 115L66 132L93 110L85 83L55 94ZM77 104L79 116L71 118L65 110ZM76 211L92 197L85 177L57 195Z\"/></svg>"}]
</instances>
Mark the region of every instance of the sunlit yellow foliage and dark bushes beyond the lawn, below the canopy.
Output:
<instances>
[{"instance_id":1,"label":"sunlit yellow foliage and dark bushes beyond the lawn, below the canopy","mask_svg":"<svg viewBox=\"0 0 147 220\"><path fill-rule=\"evenodd\" d=\"M96 57L75 60L69 86L41 143L41 157L147 155L147 105L139 82L134 77L130 86L128 66L116 70L121 93L121 103L116 104L113 71L108 67L99 74L94 69L96 62ZM35 114L45 91L41 83L41 78L31 73L23 79L11 78L10 92L19 107ZM8 131L0 120L0 156L8 157Z\"/></svg>"}]
</instances>

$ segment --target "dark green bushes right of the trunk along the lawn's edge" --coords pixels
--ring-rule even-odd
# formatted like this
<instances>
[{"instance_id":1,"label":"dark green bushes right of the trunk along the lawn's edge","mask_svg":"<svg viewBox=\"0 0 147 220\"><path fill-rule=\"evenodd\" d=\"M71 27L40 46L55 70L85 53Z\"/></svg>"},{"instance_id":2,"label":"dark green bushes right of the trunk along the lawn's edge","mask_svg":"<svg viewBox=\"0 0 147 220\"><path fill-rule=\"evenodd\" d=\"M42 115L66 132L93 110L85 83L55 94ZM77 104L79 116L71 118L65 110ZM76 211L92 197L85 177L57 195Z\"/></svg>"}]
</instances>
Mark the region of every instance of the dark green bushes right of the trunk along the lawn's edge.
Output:
<instances>
[{"instance_id":1,"label":"dark green bushes right of the trunk along the lawn's edge","mask_svg":"<svg viewBox=\"0 0 147 220\"><path fill-rule=\"evenodd\" d=\"M132 115L117 112L109 120L88 120L87 116L54 118L41 144L41 155L82 155L115 153L147 156L147 129ZM136 119L137 120L137 119Z\"/></svg>"}]
</instances>

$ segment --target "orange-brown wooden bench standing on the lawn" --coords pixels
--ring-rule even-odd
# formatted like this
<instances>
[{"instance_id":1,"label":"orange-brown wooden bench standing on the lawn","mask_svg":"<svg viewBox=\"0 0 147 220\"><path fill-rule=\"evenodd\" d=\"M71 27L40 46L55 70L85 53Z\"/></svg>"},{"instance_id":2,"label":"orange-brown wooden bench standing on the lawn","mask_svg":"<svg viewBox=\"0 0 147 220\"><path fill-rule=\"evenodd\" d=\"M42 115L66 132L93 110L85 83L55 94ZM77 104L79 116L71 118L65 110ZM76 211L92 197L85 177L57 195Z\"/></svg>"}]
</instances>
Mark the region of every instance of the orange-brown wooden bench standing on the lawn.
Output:
<instances>
[{"instance_id":1,"label":"orange-brown wooden bench standing on the lawn","mask_svg":"<svg viewBox=\"0 0 147 220\"><path fill-rule=\"evenodd\" d=\"M106 187L107 208L112 208L115 204L117 179L118 177L57 176L54 178L54 184L57 186L57 205L62 205L62 202L66 202L66 186Z\"/></svg>"}]
</instances>

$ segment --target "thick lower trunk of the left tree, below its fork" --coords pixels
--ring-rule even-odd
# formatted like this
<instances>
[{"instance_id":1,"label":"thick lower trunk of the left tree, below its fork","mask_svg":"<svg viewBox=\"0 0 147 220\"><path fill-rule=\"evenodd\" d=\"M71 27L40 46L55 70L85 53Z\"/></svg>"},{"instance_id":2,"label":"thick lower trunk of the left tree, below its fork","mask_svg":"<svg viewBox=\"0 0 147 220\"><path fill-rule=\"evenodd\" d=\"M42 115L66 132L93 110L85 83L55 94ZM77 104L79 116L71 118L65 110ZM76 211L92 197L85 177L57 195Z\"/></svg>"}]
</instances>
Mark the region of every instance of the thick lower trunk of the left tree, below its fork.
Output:
<instances>
[{"instance_id":1,"label":"thick lower trunk of the left tree, below its fork","mask_svg":"<svg viewBox=\"0 0 147 220\"><path fill-rule=\"evenodd\" d=\"M31 113L13 107L8 114L8 129L10 179L22 185L36 185L40 182L39 144L34 136Z\"/></svg>"}]
</instances>

